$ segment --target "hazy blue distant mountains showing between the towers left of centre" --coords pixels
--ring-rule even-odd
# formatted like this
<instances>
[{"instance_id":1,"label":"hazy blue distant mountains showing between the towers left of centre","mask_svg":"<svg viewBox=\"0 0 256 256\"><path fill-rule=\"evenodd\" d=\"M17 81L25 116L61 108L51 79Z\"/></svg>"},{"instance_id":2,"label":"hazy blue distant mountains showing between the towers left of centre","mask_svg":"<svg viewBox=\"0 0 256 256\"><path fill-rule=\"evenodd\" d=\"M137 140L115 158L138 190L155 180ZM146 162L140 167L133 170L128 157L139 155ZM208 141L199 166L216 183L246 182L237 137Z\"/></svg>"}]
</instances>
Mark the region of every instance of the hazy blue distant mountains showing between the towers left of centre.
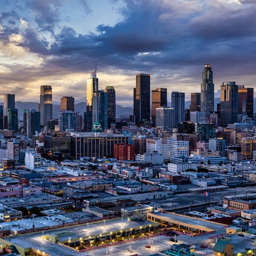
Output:
<instances>
[{"instance_id":1,"label":"hazy blue distant mountains showing between the towers left of centre","mask_svg":"<svg viewBox=\"0 0 256 256\"><path fill-rule=\"evenodd\" d=\"M4 105L4 103L2 102L0 103L0 105ZM38 102L15 101L15 108L18 109L18 118L23 119L23 113L25 109L38 110ZM60 110L60 105L57 105L57 104L52 105L53 118L58 117L59 110ZM75 104L75 111L83 115L83 112L86 111L86 102L80 102ZM126 116L126 115L133 115L133 108L116 105L117 118L121 116Z\"/></svg>"}]
</instances>

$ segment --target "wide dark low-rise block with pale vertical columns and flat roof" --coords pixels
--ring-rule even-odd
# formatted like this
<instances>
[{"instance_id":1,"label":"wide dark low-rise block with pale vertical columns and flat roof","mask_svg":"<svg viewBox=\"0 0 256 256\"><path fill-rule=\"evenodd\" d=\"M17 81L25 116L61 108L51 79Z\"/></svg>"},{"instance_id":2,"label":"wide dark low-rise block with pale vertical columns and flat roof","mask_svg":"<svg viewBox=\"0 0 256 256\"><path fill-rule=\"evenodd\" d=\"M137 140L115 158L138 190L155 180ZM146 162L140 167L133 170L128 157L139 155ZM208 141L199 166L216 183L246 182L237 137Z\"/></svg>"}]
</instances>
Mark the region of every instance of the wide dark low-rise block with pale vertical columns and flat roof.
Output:
<instances>
[{"instance_id":1,"label":"wide dark low-rise block with pale vertical columns and flat roof","mask_svg":"<svg viewBox=\"0 0 256 256\"><path fill-rule=\"evenodd\" d=\"M71 157L114 157L115 144L129 144L123 134L74 133L71 136Z\"/></svg>"}]
</instances>

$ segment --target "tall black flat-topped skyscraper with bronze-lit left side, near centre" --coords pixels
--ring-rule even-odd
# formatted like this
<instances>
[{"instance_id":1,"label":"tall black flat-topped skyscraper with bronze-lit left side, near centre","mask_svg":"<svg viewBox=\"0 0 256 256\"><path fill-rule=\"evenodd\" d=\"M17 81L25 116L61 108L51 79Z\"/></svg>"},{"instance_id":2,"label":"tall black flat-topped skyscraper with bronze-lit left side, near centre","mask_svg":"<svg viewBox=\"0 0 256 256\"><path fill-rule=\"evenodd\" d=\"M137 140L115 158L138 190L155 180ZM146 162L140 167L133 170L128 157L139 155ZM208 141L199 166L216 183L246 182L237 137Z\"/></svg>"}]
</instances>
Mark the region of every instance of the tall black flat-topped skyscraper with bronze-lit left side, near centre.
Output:
<instances>
[{"instance_id":1,"label":"tall black flat-topped skyscraper with bronze-lit left side, near centre","mask_svg":"<svg viewBox=\"0 0 256 256\"><path fill-rule=\"evenodd\" d=\"M150 124L150 74L136 75L133 111L137 125Z\"/></svg>"}]
</instances>

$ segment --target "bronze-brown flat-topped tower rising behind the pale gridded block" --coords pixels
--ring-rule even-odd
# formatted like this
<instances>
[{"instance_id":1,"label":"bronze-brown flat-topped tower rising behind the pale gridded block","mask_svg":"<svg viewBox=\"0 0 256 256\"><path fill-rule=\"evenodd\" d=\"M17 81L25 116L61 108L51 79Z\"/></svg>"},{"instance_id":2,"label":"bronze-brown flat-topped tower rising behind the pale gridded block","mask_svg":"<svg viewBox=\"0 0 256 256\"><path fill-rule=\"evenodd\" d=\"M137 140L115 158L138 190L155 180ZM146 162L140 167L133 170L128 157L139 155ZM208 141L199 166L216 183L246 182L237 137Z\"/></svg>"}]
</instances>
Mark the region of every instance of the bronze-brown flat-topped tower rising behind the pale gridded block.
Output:
<instances>
[{"instance_id":1,"label":"bronze-brown flat-topped tower rising behind the pale gridded block","mask_svg":"<svg viewBox=\"0 0 256 256\"><path fill-rule=\"evenodd\" d=\"M167 89L156 88L151 90L151 121L152 126L156 126L156 109L167 106Z\"/></svg>"}]
</instances>

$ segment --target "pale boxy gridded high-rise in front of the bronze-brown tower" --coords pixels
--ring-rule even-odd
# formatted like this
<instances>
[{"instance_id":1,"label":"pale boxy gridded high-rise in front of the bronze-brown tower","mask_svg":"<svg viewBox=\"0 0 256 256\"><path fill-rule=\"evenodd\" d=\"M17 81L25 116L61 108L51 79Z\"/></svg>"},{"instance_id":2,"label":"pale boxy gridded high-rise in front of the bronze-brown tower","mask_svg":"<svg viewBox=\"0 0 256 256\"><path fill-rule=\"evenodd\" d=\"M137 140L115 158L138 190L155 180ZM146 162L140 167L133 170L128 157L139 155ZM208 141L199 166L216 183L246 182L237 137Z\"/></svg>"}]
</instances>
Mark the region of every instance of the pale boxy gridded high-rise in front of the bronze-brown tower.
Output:
<instances>
[{"instance_id":1,"label":"pale boxy gridded high-rise in front of the bronze-brown tower","mask_svg":"<svg viewBox=\"0 0 256 256\"><path fill-rule=\"evenodd\" d=\"M174 125L174 109L167 106L156 108L156 127L163 130L170 130Z\"/></svg>"}]
</instances>

